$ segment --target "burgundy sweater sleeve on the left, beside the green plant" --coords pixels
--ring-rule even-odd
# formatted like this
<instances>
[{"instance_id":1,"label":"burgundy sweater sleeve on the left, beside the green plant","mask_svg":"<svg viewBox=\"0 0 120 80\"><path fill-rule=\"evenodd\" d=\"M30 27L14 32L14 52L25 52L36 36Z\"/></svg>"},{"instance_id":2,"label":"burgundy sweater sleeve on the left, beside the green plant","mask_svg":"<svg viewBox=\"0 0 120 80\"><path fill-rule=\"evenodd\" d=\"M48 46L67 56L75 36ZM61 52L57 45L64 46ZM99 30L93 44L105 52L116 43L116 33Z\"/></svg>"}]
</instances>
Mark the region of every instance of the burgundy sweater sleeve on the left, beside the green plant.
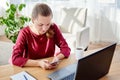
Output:
<instances>
[{"instance_id":1,"label":"burgundy sweater sleeve on the left, beside the green plant","mask_svg":"<svg viewBox=\"0 0 120 80\"><path fill-rule=\"evenodd\" d=\"M15 43L15 46L13 47L13 52L12 52L12 64L16 66L24 66L26 61L28 60L25 58L24 51L26 50L26 37L25 33L23 30L19 32L19 35L17 37L17 41Z\"/></svg>"}]
</instances>

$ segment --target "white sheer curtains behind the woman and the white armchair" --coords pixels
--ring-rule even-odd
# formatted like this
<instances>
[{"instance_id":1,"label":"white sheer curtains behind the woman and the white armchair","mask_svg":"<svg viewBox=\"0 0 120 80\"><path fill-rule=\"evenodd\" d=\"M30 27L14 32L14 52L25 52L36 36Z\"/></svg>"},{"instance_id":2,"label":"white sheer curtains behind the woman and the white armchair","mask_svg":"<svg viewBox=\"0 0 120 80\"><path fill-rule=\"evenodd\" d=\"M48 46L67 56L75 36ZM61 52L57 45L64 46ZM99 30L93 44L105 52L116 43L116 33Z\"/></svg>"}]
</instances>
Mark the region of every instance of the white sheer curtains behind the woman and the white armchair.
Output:
<instances>
[{"instance_id":1,"label":"white sheer curtains behind the woman and the white armchair","mask_svg":"<svg viewBox=\"0 0 120 80\"><path fill-rule=\"evenodd\" d=\"M49 4L53 10L53 21L57 24L60 20L61 7L87 7L86 24L90 27L90 41L120 42L119 0L21 0L21 2L26 3L24 9L26 16L31 16L32 8L36 3Z\"/></svg>"}]
</instances>

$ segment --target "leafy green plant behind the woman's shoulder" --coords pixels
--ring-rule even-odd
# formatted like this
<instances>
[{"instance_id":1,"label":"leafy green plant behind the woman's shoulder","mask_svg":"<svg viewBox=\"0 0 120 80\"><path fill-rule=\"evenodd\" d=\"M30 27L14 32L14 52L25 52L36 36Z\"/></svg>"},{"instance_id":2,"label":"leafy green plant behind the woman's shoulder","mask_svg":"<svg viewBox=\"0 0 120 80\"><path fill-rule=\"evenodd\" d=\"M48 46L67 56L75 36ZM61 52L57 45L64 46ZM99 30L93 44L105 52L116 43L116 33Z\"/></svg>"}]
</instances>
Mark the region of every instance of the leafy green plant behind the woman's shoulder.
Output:
<instances>
[{"instance_id":1,"label":"leafy green plant behind the woman's shoulder","mask_svg":"<svg viewBox=\"0 0 120 80\"><path fill-rule=\"evenodd\" d=\"M0 25L5 25L5 35L13 43L16 42L20 29L23 28L26 22L30 21L29 17L20 14L25 4L8 4L5 16L0 17Z\"/></svg>"}]
</instances>

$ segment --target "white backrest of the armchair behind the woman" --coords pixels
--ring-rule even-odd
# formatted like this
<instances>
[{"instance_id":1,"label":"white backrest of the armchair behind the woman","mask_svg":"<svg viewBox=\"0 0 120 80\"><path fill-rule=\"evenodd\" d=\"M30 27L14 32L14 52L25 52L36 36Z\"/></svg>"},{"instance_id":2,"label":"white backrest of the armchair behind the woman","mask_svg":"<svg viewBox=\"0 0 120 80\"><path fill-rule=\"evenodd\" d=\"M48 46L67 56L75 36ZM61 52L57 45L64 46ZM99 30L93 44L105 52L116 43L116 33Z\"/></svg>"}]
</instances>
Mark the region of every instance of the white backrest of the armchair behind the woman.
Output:
<instances>
[{"instance_id":1,"label":"white backrest of the armchair behind the woman","mask_svg":"<svg viewBox=\"0 0 120 80\"><path fill-rule=\"evenodd\" d=\"M87 8L62 8L60 30L63 33L76 33L86 26Z\"/></svg>"}]
</instances>

